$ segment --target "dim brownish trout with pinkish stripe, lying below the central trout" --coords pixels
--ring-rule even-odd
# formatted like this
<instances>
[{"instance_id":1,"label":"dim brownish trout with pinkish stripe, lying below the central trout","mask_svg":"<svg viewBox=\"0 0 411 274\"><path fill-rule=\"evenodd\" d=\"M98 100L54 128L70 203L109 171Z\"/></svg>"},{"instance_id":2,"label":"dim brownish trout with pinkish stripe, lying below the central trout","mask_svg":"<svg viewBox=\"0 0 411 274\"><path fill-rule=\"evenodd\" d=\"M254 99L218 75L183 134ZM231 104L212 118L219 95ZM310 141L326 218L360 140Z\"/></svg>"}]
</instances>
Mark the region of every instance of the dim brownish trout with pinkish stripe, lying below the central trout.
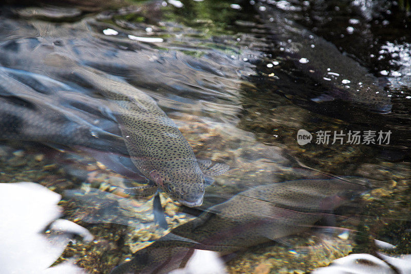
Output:
<instances>
[{"instance_id":1,"label":"dim brownish trout with pinkish stripe, lying below the central trout","mask_svg":"<svg viewBox=\"0 0 411 274\"><path fill-rule=\"evenodd\" d=\"M297 234L366 191L367 187L340 180L300 180L253 187L176 227L137 251L131 261L111 274L168 273L183 267L194 249L217 251L223 256ZM306 201L301 199L305 195ZM294 209L283 208L284 204ZM302 212L300 208L321 210Z\"/></svg>"}]
</instances>

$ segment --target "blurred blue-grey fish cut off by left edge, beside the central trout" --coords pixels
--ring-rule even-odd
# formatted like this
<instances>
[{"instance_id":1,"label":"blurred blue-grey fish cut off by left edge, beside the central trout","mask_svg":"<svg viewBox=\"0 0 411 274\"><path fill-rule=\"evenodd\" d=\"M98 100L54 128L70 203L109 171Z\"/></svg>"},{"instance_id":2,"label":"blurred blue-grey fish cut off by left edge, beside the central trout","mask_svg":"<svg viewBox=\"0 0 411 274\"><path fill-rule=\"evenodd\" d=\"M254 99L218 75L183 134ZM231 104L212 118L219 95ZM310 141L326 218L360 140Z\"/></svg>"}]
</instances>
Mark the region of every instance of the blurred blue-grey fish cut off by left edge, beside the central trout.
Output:
<instances>
[{"instance_id":1,"label":"blurred blue-grey fish cut off by left edge, beside the central trout","mask_svg":"<svg viewBox=\"0 0 411 274\"><path fill-rule=\"evenodd\" d=\"M0 104L0 139L128 153L103 100L49 77L0 67Z\"/></svg>"}]
</instances>

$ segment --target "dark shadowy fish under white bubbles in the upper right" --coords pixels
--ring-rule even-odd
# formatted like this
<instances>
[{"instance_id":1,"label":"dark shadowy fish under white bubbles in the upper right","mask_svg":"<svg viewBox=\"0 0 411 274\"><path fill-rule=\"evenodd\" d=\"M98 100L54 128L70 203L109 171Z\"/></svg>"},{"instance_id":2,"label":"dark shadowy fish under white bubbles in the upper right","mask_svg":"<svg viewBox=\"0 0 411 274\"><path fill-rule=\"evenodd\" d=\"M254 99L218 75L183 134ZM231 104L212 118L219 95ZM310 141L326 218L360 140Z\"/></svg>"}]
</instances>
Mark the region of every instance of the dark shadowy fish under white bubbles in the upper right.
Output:
<instances>
[{"instance_id":1,"label":"dark shadowy fish under white bubbles in the upper right","mask_svg":"<svg viewBox=\"0 0 411 274\"><path fill-rule=\"evenodd\" d=\"M268 37L295 60L298 69L327 88L314 102L341 99L380 113L391 111L389 94L376 76L335 45L287 18L284 12L268 5L259 9Z\"/></svg>"}]
</instances>

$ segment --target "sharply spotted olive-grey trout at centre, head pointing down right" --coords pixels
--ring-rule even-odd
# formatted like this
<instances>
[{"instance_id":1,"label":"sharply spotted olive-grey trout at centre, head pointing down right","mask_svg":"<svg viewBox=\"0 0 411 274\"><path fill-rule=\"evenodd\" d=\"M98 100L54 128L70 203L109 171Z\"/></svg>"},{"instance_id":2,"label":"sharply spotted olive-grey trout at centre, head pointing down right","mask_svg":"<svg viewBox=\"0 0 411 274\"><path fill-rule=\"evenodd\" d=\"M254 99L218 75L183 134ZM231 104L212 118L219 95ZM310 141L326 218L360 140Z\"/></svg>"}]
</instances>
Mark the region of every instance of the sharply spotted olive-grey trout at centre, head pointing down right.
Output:
<instances>
[{"instance_id":1,"label":"sharply spotted olive-grey trout at centre, head pointing down right","mask_svg":"<svg viewBox=\"0 0 411 274\"><path fill-rule=\"evenodd\" d=\"M76 66L54 54L47 62L72 66L72 74L114 102L130 159L137 169L165 193L189 207L202 204L206 177L228 170L225 164L197 161L188 141L156 101L140 89L92 68Z\"/></svg>"}]
</instances>

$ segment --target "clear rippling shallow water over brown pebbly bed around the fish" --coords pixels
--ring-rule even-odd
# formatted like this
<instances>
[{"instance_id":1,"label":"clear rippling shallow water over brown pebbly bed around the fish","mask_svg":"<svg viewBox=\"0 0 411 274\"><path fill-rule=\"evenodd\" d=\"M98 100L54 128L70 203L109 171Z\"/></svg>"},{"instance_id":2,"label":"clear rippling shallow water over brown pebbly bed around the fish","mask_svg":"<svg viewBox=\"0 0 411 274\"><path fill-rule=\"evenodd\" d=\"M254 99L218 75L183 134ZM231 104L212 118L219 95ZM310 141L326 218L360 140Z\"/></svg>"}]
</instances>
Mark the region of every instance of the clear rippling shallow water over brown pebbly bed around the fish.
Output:
<instances>
[{"instance_id":1,"label":"clear rippling shallow water over brown pebbly bed around the fish","mask_svg":"<svg viewBox=\"0 0 411 274\"><path fill-rule=\"evenodd\" d=\"M64 217L95 236L69 244L58 262L74 259L96 273L124 261L135 272L145 264L167 272L183 266L193 248L203 248L224 255L229 272L276 273L308 271L351 251L373 253L373 239L409 253L409 18L396 7L369 2L239 3L240 10L230 4L187 1L178 8L153 2L90 14L82 8L2 9L1 136L9 141L0 154L1 181L33 181L62 194ZM33 16L33 10L39 11ZM61 13L63 19L55 15ZM56 16L64 22L55 22ZM274 17L296 25L270 25ZM300 46L305 36L298 41L295 34L307 30L328 41L316 40L311 55ZM337 51L328 50L331 43ZM386 96L377 96L379 106L391 105L390 113L369 107L371 93L353 101L349 89L340 91L338 76L330 86L304 67L308 60L314 71L342 73L322 67L347 60L342 52L365 68L343 64L356 81L390 81ZM163 241L154 242L170 230L155 224L153 198L123 190L144 180L120 175L126 172L117 168L123 163L118 158L101 163L106 152L126 156L127 149L116 106L96 92L92 79L73 73L78 68L96 69L120 89L129 83L152 96L197 159L231 167L214 178L197 209L162 196L173 229ZM331 88L339 90L337 100L311 100ZM297 144L300 129L313 133L310 144ZM315 144L320 130L392 133L385 145ZM328 181L321 180L333 176L356 185L324 186ZM293 187L305 179L317 181ZM272 193L252 192L276 183ZM201 211L211 213L198 218Z\"/></svg>"}]
</instances>

